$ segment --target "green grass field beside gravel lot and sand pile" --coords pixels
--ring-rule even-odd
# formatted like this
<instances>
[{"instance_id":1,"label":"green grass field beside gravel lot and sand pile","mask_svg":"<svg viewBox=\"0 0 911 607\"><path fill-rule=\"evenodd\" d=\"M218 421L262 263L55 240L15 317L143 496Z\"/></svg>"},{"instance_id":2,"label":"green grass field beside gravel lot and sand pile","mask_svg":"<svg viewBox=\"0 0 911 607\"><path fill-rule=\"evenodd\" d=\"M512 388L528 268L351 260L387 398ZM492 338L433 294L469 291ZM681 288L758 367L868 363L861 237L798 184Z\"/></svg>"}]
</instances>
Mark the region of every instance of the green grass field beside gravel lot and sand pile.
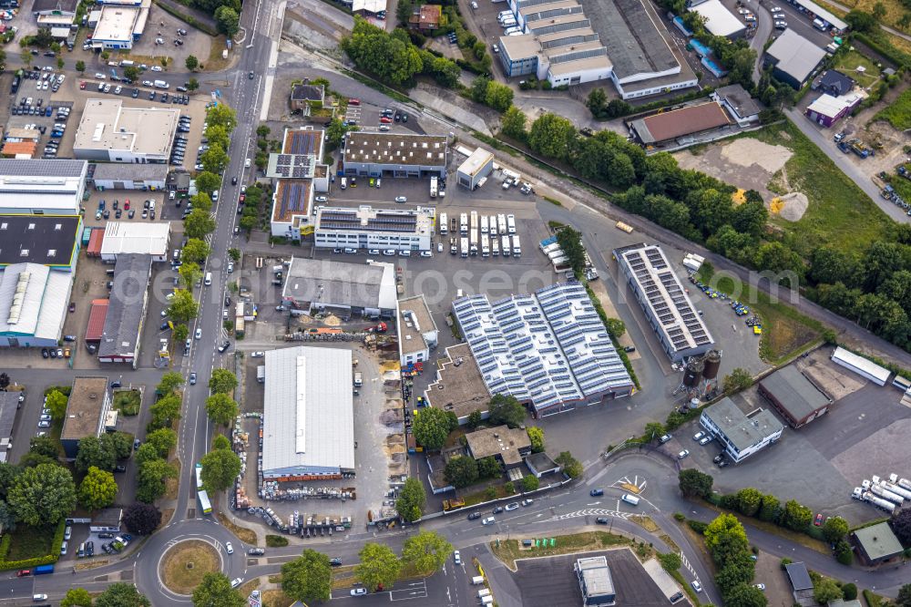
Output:
<instances>
[{"instance_id":1,"label":"green grass field beside gravel lot and sand pile","mask_svg":"<svg viewBox=\"0 0 911 607\"><path fill-rule=\"evenodd\" d=\"M793 151L784 170L790 190L803 192L809 207L800 221L776 218L772 222L794 251L809 257L814 249L832 245L858 252L884 238L893 221L792 122L756 131L750 137ZM770 190L779 190L775 185L781 182L781 175L776 174Z\"/></svg>"}]
</instances>

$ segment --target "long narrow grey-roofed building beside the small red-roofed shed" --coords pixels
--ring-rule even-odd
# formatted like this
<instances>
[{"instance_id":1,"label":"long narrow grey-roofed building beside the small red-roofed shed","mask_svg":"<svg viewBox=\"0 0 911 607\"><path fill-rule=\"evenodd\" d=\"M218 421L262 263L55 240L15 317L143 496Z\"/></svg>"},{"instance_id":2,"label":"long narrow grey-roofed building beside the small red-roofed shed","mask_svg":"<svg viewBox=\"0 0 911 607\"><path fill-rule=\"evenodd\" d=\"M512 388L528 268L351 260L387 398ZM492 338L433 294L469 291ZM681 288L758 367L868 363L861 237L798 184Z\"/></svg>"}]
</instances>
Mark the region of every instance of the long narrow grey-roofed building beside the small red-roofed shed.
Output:
<instances>
[{"instance_id":1,"label":"long narrow grey-roofed building beside the small red-roofed shed","mask_svg":"<svg viewBox=\"0 0 911 607\"><path fill-rule=\"evenodd\" d=\"M139 336L146 317L152 256L121 253L114 266L114 286L98 340L98 361L138 365Z\"/></svg>"}]
</instances>

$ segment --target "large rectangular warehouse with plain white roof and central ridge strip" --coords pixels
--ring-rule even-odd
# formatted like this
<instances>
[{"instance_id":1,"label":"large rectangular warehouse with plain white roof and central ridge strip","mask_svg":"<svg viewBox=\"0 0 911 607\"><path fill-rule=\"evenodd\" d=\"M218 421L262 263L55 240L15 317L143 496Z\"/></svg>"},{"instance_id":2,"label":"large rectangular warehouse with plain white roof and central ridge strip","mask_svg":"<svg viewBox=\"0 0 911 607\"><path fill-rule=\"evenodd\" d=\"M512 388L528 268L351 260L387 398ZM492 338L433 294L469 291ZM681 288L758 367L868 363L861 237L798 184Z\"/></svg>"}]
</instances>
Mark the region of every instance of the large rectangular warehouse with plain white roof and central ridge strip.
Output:
<instances>
[{"instance_id":1,"label":"large rectangular warehouse with plain white roof and central ridge strip","mask_svg":"<svg viewBox=\"0 0 911 607\"><path fill-rule=\"evenodd\" d=\"M266 351L262 478L354 473L351 350L299 345Z\"/></svg>"}]
</instances>

